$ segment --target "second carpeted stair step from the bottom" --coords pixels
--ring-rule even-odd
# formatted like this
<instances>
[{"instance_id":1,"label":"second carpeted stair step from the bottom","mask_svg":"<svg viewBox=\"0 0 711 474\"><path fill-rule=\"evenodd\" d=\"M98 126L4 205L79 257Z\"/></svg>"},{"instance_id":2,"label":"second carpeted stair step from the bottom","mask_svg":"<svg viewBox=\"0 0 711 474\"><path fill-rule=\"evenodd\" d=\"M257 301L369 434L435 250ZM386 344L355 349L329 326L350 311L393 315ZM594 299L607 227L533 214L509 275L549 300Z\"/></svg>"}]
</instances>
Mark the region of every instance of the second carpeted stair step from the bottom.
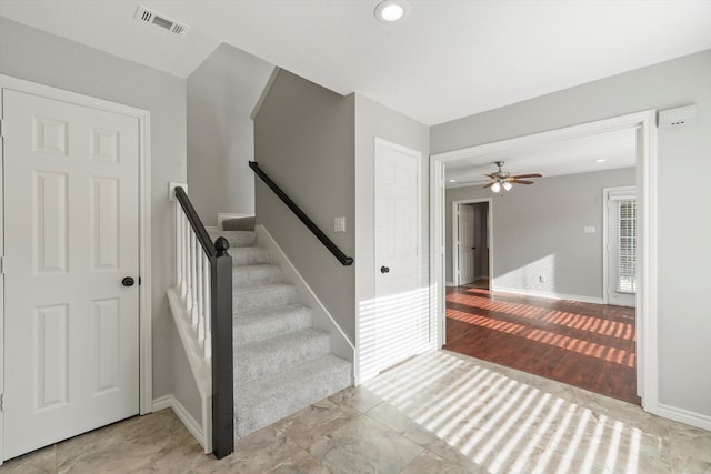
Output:
<instances>
[{"instance_id":1,"label":"second carpeted stair step from the bottom","mask_svg":"<svg viewBox=\"0 0 711 474\"><path fill-rule=\"evenodd\" d=\"M234 351L234 384L246 385L291 365L322 357L331 352L328 332L314 329L278 335L246 344Z\"/></svg>"}]
</instances>

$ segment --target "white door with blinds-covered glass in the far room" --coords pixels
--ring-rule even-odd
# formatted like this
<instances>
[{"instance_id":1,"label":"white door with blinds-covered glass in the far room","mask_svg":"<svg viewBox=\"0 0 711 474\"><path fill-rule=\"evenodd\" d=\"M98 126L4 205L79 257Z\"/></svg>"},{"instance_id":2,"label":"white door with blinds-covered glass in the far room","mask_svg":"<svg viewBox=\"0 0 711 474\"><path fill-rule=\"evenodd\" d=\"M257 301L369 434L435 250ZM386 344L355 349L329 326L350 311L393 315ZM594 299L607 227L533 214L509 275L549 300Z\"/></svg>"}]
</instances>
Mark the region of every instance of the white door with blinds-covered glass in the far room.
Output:
<instances>
[{"instance_id":1,"label":"white door with blinds-covered glass in the far room","mask_svg":"<svg viewBox=\"0 0 711 474\"><path fill-rule=\"evenodd\" d=\"M637 297L637 200L634 190L608 194L608 303L634 307Z\"/></svg>"}]
</instances>

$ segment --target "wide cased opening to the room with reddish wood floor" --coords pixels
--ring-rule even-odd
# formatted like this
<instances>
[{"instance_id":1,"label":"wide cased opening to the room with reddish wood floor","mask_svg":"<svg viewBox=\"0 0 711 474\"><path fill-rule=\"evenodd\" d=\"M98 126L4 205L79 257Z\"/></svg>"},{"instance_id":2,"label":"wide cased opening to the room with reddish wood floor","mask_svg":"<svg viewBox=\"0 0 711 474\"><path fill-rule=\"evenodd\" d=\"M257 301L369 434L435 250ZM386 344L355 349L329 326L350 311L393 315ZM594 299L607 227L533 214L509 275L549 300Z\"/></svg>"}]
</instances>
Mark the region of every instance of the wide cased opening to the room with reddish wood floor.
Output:
<instances>
[{"instance_id":1,"label":"wide cased opening to the room with reddish wood floor","mask_svg":"<svg viewBox=\"0 0 711 474\"><path fill-rule=\"evenodd\" d=\"M600 144L608 141L614 144ZM637 223L620 218L633 209L635 142L635 130L629 129L508 152L507 163L519 167L512 172L551 168L533 186L489 198L495 224L488 243L497 249L490 284L470 279L477 271L468 270L467 228L469 208L491 191L483 189L485 180L463 178L462 164L453 163L451 174L445 167L447 181L460 184L448 186L444 195L445 209L451 208L445 228L452 223L452 238L444 240L451 245L444 349L640 404L635 311L621 305L635 301L628 273L637 268L629 240ZM582 169L570 162L575 149L587 161ZM568 171L553 170L557 153ZM624 158L615 165L590 169L589 163L614 161L618 154ZM535 161L542 155L547 162ZM478 157L478 164L500 158ZM610 190L619 186L628 186L627 193L611 200ZM620 221L624 228L612 226ZM472 241L471 246L478 245Z\"/></svg>"}]
</instances>

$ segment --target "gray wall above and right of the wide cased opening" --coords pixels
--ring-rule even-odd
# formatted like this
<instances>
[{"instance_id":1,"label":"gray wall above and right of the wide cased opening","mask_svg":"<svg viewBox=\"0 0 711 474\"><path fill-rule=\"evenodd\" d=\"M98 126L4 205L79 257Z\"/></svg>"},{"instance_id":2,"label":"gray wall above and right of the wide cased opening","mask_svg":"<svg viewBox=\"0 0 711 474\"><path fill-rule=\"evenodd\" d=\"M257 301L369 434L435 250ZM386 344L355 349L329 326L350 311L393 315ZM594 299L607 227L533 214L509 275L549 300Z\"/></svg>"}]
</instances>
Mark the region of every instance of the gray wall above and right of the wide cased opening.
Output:
<instances>
[{"instance_id":1,"label":"gray wall above and right of the wide cased opening","mask_svg":"<svg viewBox=\"0 0 711 474\"><path fill-rule=\"evenodd\" d=\"M431 129L432 152L489 143L648 109L689 103L695 123L659 130L659 401L711 416L711 50Z\"/></svg>"}]
</instances>

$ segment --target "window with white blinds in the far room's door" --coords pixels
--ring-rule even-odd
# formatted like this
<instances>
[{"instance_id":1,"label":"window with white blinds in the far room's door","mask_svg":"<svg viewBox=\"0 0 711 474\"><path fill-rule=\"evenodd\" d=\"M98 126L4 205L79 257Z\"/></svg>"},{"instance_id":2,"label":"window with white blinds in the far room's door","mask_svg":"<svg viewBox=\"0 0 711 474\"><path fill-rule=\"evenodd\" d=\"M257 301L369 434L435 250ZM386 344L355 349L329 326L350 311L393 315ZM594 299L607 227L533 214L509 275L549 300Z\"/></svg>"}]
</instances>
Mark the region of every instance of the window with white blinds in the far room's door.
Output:
<instances>
[{"instance_id":1,"label":"window with white blinds in the far room's door","mask_svg":"<svg viewBox=\"0 0 711 474\"><path fill-rule=\"evenodd\" d=\"M620 293L637 292L637 201L618 204L618 288Z\"/></svg>"}]
</instances>

